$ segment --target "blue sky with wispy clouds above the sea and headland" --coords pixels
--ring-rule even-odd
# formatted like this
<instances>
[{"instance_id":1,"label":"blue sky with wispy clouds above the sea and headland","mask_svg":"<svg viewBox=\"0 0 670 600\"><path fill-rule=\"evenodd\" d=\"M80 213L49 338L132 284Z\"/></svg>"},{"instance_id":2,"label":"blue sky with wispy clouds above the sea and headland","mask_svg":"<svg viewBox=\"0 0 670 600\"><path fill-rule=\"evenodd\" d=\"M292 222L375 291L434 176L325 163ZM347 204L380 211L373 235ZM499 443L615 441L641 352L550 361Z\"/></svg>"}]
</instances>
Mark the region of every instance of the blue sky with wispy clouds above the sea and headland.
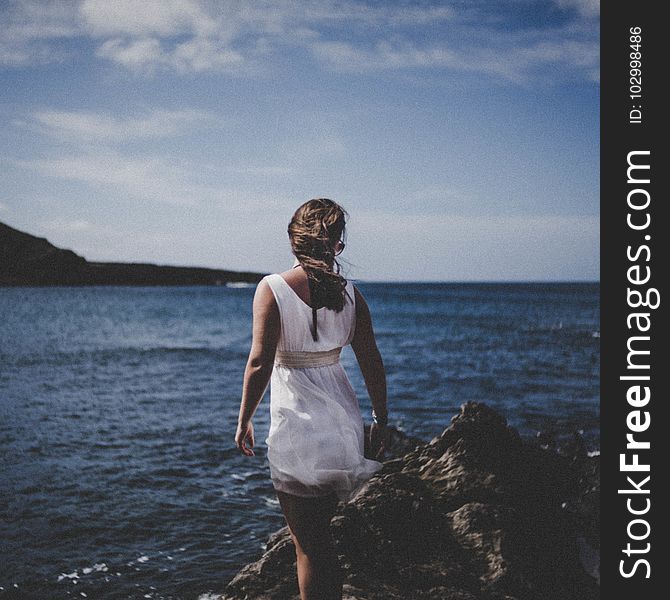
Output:
<instances>
[{"instance_id":1,"label":"blue sky with wispy clouds above the sea and headland","mask_svg":"<svg viewBox=\"0 0 670 600\"><path fill-rule=\"evenodd\" d=\"M0 0L0 221L89 260L599 279L598 0Z\"/></svg>"}]
</instances>

